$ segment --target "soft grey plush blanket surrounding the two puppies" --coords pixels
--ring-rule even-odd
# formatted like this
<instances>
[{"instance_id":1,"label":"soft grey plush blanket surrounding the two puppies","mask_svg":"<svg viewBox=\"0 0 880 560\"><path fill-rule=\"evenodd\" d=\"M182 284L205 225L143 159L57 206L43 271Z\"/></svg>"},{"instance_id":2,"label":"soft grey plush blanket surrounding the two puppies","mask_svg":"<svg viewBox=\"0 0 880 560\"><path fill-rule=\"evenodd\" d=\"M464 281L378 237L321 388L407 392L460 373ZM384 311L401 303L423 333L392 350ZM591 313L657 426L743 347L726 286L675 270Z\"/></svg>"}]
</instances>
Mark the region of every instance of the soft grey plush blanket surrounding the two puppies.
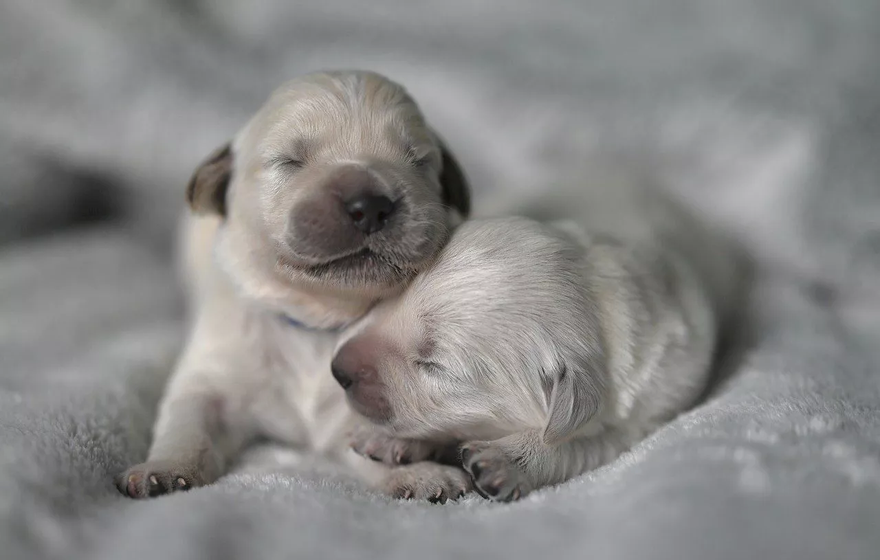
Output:
<instances>
[{"instance_id":1,"label":"soft grey plush blanket surrounding the two puppies","mask_svg":"<svg viewBox=\"0 0 880 560\"><path fill-rule=\"evenodd\" d=\"M876 558L876 0L0 3L0 557ZM182 189L282 80L407 84L478 211L612 152L744 244L700 406L513 505L394 502L283 449L134 502L180 348Z\"/></svg>"}]
</instances>

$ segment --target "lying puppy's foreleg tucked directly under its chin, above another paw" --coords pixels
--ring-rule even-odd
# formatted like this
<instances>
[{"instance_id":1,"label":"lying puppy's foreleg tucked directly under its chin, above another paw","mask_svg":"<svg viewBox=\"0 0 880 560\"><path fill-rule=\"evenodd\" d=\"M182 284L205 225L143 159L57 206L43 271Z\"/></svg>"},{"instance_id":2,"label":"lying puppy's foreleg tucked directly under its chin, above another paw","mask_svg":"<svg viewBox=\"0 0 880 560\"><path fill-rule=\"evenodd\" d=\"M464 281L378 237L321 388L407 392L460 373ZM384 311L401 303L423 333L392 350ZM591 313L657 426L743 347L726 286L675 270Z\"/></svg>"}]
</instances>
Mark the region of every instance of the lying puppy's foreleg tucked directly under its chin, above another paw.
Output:
<instances>
[{"instance_id":1,"label":"lying puppy's foreleg tucked directly under its chin, above another paw","mask_svg":"<svg viewBox=\"0 0 880 560\"><path fill-rule=\"evenodd\" d=\"M458 466L458 445L395 438L374 425L358 425L351 433L351 448L358 455L386 465L433 461Z\"/></svg>"}]
</instances>

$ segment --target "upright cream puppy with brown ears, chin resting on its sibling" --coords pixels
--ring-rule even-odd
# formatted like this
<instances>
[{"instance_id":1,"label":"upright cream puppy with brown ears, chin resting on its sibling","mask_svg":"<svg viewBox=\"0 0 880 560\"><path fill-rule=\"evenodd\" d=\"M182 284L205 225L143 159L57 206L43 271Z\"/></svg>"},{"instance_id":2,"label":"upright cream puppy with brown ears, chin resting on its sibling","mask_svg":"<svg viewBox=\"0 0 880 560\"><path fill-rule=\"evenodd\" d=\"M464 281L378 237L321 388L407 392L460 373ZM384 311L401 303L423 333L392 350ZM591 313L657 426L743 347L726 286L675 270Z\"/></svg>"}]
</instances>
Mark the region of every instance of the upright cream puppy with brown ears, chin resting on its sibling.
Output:
<instances>
[{"instance_id":1,"label":"upright cream puppy with brown ears, chin resting on its sibling","mask_svg":"<svg viewBox=\"0 0 880 560\"><path fill-rule=\"evenodd\" d=\"M339 332L429 265L469 206L413 99L356 71L284 84L194 172L187 200L194 320L149 456L117 477L131 498L210 484L255 438L348 452L356 419L329 372ZM368 478L437 499L467 480L431 463Z\"/></svg>"}]
</instances>

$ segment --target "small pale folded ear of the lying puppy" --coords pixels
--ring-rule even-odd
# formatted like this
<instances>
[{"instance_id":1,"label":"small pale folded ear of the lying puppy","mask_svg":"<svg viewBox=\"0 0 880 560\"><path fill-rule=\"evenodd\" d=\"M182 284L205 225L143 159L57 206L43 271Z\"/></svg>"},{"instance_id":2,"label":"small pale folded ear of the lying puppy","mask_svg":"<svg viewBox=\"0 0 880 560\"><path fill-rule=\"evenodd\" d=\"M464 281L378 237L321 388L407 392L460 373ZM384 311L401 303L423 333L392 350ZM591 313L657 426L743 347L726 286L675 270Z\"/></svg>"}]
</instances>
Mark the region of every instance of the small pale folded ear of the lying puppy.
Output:
<instances>
[{"instance_id":1,"label":"small pale folded ear of the lying puppy","mask_svg":"<svg viewBox=\"0 0 880 560\"><path fill-rule=\"evenodd\" d=\"M549 405L541 434L544 443L551 446L561 443L589 422L600 410L604 392L600 378L583 368L561 363L554 377L546 380Z\"/></svg>"}]
</instances>

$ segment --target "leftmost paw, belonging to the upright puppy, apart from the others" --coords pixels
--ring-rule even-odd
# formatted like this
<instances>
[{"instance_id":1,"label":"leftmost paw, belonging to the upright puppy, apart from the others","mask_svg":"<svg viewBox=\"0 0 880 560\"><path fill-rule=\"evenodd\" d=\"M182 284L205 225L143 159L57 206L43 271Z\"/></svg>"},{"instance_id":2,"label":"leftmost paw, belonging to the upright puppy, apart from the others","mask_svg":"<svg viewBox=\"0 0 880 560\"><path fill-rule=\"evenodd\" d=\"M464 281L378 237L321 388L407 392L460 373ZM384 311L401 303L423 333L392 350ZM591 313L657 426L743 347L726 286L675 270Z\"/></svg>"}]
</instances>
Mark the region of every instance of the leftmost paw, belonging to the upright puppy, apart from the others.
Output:
<instances>
[{"instance_id":1,"label":"leftmost paw, belonging to the upright puppy, apart from the others","mask_svg":"<svg viewBox=\"0 0 880 560\"><path fill-rule=\"evenodd\" d=\"M206 484L199 469L183 462L143 462L121 472L116 488L128 498L151 498Z\"/></svg>"}]
</instances>

